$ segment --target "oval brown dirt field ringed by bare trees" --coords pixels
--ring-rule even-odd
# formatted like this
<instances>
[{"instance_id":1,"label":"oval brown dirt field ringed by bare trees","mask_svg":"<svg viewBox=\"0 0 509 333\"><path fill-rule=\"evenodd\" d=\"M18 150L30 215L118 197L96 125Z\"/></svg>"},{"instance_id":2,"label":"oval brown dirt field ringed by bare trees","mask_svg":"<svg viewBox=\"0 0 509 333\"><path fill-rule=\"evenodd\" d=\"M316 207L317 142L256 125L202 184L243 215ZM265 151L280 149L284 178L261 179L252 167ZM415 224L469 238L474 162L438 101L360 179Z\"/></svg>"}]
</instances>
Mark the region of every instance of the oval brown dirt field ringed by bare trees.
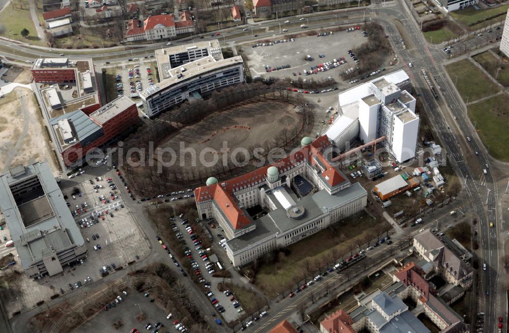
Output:
<instances>
[{"instance_id":1,"label":"oval brown dirt field ringed by bare trees","mask_svg":"<svg viewBox=\"0 0 509 333\"><path fill-rule=\"evenodd\" d=\"M193 149L196 157L203 155L206 162L218 158L217 155L227 155L230 160L236 148L249 149L268 138L278 137L283 129L300 131L302 125L302 116L293 104L274 100L248 103L216 112L195 125L183 128L168 136L157 149L172 148L177 153L176 164L195 166L191 165L192 155L184 155L182 147Z\"/></svg>"}]
</instances>

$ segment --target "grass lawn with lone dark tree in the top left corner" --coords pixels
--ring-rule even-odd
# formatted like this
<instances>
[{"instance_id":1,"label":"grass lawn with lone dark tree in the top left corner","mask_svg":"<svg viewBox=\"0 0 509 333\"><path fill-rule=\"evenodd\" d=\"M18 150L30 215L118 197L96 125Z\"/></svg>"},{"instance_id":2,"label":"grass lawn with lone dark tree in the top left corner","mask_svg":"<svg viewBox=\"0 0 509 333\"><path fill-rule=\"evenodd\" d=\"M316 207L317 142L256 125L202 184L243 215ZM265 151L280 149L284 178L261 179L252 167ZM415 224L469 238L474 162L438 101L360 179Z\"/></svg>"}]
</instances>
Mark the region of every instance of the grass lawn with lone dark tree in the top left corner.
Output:
<instances>
[{"instance_id":1,"label":"grass lawn with lone dark tree in the top left corner","mask_svg":"<svg viewBox=\"0 0 509 333\"><path fill-rule=\"evenodd\" d=\"M0 24L5 27L3 37L35 45L44 45L44 42L37 37L34 21L30 16L29 0L16 0L7 5L0 13ZM26 38L21 36L23 28L30 32Z\"/></svg>"}]
</instances>

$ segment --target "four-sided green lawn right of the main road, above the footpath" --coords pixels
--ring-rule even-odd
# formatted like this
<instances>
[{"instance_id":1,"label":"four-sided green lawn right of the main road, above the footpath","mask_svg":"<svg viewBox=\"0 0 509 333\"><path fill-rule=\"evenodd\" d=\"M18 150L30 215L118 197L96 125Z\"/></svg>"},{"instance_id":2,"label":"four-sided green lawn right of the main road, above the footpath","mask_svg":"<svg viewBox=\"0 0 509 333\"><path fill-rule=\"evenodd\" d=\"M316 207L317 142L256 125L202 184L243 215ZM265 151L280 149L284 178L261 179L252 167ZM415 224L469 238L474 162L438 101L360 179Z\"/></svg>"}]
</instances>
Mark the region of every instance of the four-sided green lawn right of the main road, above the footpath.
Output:
<instances>
[{"instance_id":1,"label":"four-sided green lawn right of the main road, above the footpath","mask_svg":"<svg viewBox=\"0 0 509 333\"><path fill-rule=\"evenodd\" d=\"M446 66L447 72L464 101L476 101L499 92L498 86L468 59ZM458 79L456 79L458 77Z\"/></svg>"}]
</instances>

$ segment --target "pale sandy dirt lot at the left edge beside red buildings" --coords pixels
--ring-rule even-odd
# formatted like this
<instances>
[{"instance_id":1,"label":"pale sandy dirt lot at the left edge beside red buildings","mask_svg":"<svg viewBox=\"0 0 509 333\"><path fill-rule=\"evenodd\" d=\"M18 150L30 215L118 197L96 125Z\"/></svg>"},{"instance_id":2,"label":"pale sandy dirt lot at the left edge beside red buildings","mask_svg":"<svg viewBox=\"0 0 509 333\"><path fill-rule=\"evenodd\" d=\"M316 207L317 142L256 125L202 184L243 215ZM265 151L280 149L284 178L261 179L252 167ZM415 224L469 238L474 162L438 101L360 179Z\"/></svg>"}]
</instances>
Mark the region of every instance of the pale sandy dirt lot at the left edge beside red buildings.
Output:
<instances>
[{"instance_id":1,"label":"pale sandy dirt lot at the left edge beside red buildings","mask_svg":"<svg viewBox=\"0 0 509 333\"><path fill-rule=\"evenodd\" d=\"M56 164L47 140L39 106L31 90L15 88L0 100L0 170L7 164L46 161L51 170ZM16 146L16 144L18 145Z\"/></svg>"}]
</instances>

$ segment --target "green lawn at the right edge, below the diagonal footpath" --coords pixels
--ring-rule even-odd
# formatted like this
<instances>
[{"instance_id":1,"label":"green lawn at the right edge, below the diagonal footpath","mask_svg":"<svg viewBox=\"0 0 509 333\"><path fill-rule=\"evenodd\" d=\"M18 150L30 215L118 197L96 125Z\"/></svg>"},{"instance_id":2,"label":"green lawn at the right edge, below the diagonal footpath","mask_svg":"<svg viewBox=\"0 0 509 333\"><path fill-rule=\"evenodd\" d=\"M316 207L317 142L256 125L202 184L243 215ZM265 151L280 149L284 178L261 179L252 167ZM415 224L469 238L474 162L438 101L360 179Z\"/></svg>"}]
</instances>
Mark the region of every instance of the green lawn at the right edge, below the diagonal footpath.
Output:
<instances>
[{"instance_id":1,"label":"green lawn at the right edge, below the diagonal footpath","mask_svg":"<svg viewBox=\"0 0 509 333\"><path fill-rule=\"evenodd\" d=\"M468 115L476 122L477 132L489 153L501 161L509 161L509 105L505 95L494 96L468 106Z\"/></svg>"}]
</instances>

